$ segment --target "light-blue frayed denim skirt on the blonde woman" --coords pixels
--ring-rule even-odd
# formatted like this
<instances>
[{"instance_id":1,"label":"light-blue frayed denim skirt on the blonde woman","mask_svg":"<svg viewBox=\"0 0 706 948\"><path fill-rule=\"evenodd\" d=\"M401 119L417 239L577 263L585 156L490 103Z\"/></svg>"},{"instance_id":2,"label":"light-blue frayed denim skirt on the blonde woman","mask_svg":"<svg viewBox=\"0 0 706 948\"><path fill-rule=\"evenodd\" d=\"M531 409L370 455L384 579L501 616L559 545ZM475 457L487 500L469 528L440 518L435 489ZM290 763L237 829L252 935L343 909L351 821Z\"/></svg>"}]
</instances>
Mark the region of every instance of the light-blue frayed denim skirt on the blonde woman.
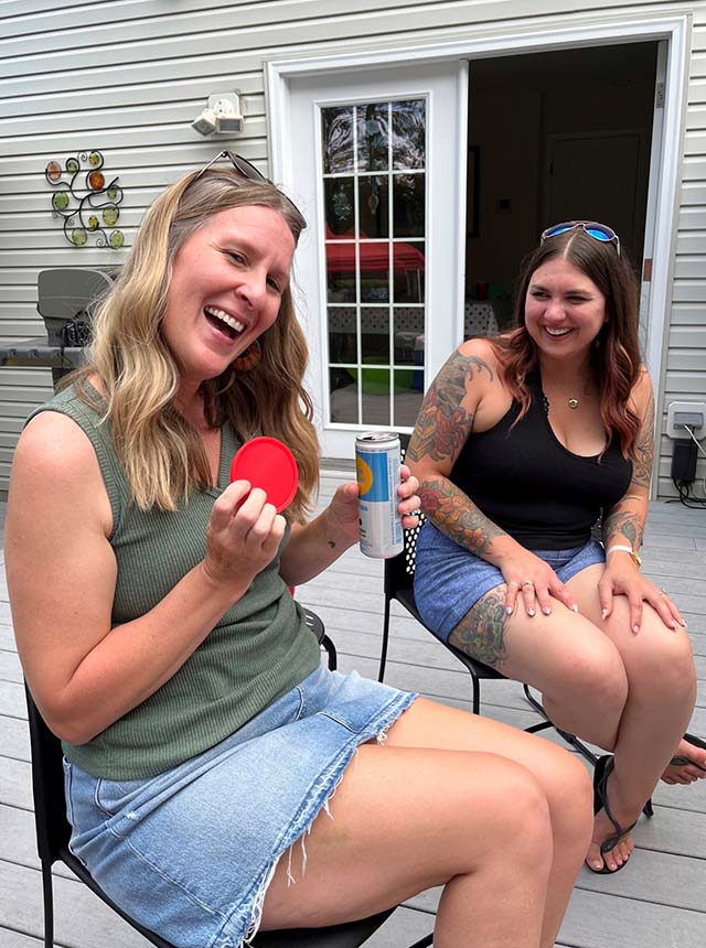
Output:
<instances>
[{"instance_id":1,"label":"light-blue frayed denim skirt on the blonde woman","mask_svg":"<svg viewBox=\"0 0 706 948\"><path fill-rule=\"evenodd\" d=\"M359 744L415 693L324 662L211 750L156 777L106 780L64 761L71 849L133 918L180 948L239 948L267 886L324 809ZM301 852L300 852L301 850Z\"/></svg>"}]
</instances>

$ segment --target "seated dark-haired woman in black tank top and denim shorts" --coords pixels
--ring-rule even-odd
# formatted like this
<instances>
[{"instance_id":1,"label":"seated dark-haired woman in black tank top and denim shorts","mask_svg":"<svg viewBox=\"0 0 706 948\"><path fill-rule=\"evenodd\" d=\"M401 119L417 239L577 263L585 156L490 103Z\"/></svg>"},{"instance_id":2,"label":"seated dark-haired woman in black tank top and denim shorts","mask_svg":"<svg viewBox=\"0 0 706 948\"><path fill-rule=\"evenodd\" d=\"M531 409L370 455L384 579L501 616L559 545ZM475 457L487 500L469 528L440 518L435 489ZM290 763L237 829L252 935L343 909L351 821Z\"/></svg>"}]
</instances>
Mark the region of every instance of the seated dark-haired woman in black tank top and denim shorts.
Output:
<instances>
[{"instance_id":1,"label":"seated dark-haired woman in black tank top and denim shorts","mask_svg":"<svg viewBox=\"0 0 706 948\"><path fill-rule=\"evenodd\" d=\"M638 301L609 227L548 228L523 268L517 327L451 355L407 454L429 517L415 575L427 624L613 752L595 775L595 872L625 864L661 775L706 774L682 739L695 700L684 623L639 569L654 408Z\"/></svg>"}]
</instances>

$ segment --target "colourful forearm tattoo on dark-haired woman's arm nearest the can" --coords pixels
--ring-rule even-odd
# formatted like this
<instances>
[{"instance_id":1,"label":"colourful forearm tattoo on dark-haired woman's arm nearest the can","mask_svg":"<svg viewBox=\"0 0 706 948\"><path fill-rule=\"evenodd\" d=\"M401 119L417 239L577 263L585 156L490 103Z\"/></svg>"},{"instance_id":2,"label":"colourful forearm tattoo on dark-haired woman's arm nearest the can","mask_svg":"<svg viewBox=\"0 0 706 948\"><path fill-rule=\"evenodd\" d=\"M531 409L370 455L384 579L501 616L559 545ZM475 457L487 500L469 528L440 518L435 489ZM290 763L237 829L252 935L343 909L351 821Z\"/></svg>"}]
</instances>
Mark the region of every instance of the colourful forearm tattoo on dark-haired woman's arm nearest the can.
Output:
<instances>
[{"instance_id":1,"label":"colourful forearm tattoo on dark-haired woman's arm nearest the can","mask_svg":"<svg viewBox=\"0 0 706 948\"><path fill-rule=\"evenodd\" d=\"M495 537L504 537L492 520L482 514L448 477L430 477L419 485L419 498L425 514L460 547L482 557Z\"/></svg>"}]
</instances>

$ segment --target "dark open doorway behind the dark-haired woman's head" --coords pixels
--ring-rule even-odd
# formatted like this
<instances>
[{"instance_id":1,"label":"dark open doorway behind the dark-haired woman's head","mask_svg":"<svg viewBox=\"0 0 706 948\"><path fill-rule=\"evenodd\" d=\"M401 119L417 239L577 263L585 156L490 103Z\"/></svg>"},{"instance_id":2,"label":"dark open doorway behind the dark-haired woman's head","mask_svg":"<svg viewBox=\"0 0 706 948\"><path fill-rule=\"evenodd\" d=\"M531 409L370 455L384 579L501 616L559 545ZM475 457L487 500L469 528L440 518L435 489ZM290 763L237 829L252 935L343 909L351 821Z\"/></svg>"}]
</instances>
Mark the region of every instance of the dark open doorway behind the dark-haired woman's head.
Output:
<instances>
[{"instance_id":1,"label":"dark open doorway behind the dark-haired woman's head","mask_svg":"<svg viewBox=\"0 0 706 948\"><path fill-rule=\"evenodd\" d=\"M467 336L511 325L520 263L550 224L610 225L640 271L656 55L630 43L471 62Z\"/></svg>"}]
</instances>

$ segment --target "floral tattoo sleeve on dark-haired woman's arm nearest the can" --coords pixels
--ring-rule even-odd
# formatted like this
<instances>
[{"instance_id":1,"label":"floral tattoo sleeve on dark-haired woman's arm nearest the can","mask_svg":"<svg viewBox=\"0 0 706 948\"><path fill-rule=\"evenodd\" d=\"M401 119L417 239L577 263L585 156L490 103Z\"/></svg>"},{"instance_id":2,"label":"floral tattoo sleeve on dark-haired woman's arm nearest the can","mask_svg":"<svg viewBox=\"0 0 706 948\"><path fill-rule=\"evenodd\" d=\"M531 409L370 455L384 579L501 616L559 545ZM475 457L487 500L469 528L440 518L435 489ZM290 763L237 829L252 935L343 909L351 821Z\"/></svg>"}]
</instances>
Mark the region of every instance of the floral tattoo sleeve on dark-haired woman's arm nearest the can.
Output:
<instances>
[{"instance_id":1,"label":"floral tattoo sleeve on dark-haired woman's arm nearest the can","mask_svg":"<svg viewBox=\"0 0 706 948\"><path fill-rule=\"evenodd\" d=\"M468 385L482 373L493 380L484 359L458 351L450 356L421 403L407 451L409 461L430 457L449 467L453 464L473 428L473 412L463 406ZM494 537L504 536L448 477L428 475L418 493L425 514L459 546L483 556Z\"/></svg>"}]
</instances>

